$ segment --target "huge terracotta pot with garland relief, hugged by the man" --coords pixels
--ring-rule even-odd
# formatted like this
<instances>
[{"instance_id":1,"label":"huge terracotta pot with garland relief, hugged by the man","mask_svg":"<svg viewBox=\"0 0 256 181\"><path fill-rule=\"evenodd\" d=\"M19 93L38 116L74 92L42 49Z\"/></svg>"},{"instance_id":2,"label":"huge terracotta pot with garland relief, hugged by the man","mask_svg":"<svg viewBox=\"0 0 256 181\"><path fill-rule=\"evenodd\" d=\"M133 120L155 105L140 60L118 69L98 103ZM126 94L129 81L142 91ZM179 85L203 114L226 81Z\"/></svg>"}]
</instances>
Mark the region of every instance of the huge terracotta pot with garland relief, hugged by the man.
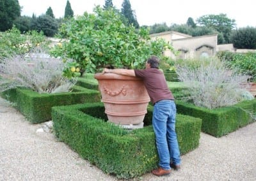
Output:
<instances>
[{"instance_id":1,"label":"huge terracotta pot with garland relief, hugged by the man","mask_svg":"<svg viewBox=\"0 0 256 181\"><path fill-rule=\"evenodd\" d=\"M121 126L141 125L150 98L143 80L134 76L97 73L99 90L109 122Z\"/></svg>"}]
</instances>

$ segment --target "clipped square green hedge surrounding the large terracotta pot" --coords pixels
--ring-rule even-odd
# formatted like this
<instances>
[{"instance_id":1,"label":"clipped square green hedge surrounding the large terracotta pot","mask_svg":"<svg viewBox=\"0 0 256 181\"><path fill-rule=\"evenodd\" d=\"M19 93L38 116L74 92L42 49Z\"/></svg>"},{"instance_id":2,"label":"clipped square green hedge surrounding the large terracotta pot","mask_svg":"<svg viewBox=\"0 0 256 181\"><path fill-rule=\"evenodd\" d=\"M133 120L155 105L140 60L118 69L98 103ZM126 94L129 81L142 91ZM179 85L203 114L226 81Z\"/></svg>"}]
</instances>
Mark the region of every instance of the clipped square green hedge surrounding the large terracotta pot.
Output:
<instances>
[{"instance_id":1,"label":"clipped square green hedge surrounding the large terracotta pot","mask_svg":"<svg viewBox=\"0 0 256 181\"><path fill-rule=\"evenodd\" d=\"M105 173L133 178L157 167L152 106L148 106L145 126L133 131L107 122L103 103L54 107L52 121L60 141ZM201 119L177 115L176 131L182 154L198 147L201 124Z\"/></svg>"}]
</instances>

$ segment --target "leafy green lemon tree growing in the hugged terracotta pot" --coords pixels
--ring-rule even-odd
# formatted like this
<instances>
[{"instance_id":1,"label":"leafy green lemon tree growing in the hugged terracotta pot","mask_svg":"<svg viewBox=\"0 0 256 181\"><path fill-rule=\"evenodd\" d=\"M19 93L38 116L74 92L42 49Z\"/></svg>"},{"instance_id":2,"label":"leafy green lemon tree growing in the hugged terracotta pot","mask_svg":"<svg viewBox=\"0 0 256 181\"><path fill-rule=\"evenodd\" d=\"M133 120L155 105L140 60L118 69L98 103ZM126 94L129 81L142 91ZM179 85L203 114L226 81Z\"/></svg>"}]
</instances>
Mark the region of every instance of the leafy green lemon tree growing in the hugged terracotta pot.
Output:
<instances>
[{"instance_id":1,"label":"leafy green lemon tree growing in the hugged terracotta pot","mask_svg":"<svg viewBox=\"0 0 256 181\"><path fill-rule=\"evenodd\" d=\"M51 55L63 60L73 59L81 73L95 73L104 66L115 68L144 68L150 55L161 57L164 48L173 50L162 39L150 41L147 29L125 26L115 10L102 10L70 19L60 27L59 38L67 38L56 45Z\"/></svg>"}]
</instances>

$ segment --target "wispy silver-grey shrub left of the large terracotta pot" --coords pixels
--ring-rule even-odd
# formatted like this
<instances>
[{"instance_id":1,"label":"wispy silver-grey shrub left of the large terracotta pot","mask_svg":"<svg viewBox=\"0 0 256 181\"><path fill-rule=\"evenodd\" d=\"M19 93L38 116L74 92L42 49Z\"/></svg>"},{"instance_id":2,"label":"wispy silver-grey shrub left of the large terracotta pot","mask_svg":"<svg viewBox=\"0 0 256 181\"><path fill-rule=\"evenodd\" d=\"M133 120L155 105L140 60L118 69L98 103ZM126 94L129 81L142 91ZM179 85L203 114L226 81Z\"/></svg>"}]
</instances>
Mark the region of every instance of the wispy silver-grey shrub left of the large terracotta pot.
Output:
<instances>
[{"instance_id":1,"label":"wispy silver-grey shrub left of the large terracotta pot","mask_svg":"<svg viewBox=\"0 0 256 181\"><path fill-rule=\"evenodd\" d=\"M26 87L39 93L68 92L76 79L63 76L65 64L44 52L15 55L0 62L0 92Z\"/></svg>"}]
</instances>

